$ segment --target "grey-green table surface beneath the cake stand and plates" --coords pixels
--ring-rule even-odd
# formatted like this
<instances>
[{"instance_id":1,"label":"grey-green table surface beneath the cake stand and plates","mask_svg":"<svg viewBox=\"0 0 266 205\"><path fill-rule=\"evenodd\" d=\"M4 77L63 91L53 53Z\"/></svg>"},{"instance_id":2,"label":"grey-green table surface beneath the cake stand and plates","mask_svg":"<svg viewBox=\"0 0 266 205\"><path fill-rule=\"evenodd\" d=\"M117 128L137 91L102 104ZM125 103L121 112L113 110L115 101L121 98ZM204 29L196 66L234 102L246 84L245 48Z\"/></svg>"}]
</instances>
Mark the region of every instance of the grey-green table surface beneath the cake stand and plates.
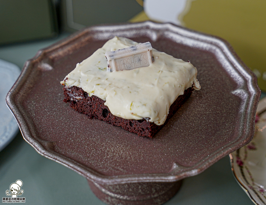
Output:
<instances>
[{"instance_id":1,"label":"grey-green table surface beneath the cake stand and plates","mask_svg":"<svg viewBox=\"0 0 266 205\"><path fill-rule=\"evenodd\" d=\"M39 49L58 38L0 47L0 59L23 67ZM263 94L265 96L265 94ZM100 201L85 177L63 165L38 154L19 132L14 140L0 152L0 198L7 197L6 190L22 180L25 204L105 204ZM229 156L213 164L201 174L188 177L178 193L165 203L170 204L249 204L253 202L238 185L231 172Z\"/></svg>"}]
</instances>

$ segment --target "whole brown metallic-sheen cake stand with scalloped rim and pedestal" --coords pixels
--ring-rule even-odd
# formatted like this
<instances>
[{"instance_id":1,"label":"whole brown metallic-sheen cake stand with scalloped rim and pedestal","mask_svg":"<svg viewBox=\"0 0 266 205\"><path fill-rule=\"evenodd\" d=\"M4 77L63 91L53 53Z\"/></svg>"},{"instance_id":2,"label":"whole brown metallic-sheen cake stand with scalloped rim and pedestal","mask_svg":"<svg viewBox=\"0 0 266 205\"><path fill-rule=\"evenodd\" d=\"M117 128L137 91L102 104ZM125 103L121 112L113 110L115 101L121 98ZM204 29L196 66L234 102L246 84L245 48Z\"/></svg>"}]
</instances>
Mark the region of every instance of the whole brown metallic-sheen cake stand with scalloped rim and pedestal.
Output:
<instances>
[{"instance_id":1,"label":"whole brown metallic-sheen cake stand with scalloped rim and pedestal","mask_svg":"<svg viewBox=\"0 0 266 205\"><path fill-rule=\"evenodd\" d=\"M59 83L114 36L138 42L198 69L195 91L154 138L90 120L63 102ZM108 204L162 204L180 187L248 143L260 91L255 75L224 40L172 24L142 22L86 28L25 63L7 104L25 140L83 175Z\"/></svg>"}]
</instances>

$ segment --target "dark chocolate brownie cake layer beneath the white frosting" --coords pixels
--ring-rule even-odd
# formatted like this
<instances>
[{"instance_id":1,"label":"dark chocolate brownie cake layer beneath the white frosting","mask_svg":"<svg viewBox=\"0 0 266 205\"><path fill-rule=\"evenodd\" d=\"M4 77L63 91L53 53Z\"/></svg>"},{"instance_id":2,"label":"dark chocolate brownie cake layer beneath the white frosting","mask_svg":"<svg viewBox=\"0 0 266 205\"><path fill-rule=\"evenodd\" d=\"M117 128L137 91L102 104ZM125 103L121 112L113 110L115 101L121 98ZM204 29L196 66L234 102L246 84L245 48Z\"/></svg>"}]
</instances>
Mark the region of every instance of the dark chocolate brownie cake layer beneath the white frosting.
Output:
<instances>
[{"instance_id":1,"label":"dark chocolate brownie cake layer beneath the white frosting","mask_svg":"<svg viewBox=\"0 0 266 205\"><path fill-rule=\"evenodd\" d=\"M153 122L149 122L149 119L142 120L126 120L121 117L114 116L108 107L104 105L105 101L97 96L89 96L87 92L82 88L73 86L66 88L64 86L64 102L70 102L70 106L82 114L87 115L90 119L103 120L114 126L121 126L123 129L136 133L139 136L146 136L152 138L163 125L173 116L173 114L179 109L179 107L189 98L193 88L188 88L184 91L183 95L180 95L176 101L170 106L169 113L167 115L166 122L163 125L156 125Z\"/></svg>"}]
</instances>

